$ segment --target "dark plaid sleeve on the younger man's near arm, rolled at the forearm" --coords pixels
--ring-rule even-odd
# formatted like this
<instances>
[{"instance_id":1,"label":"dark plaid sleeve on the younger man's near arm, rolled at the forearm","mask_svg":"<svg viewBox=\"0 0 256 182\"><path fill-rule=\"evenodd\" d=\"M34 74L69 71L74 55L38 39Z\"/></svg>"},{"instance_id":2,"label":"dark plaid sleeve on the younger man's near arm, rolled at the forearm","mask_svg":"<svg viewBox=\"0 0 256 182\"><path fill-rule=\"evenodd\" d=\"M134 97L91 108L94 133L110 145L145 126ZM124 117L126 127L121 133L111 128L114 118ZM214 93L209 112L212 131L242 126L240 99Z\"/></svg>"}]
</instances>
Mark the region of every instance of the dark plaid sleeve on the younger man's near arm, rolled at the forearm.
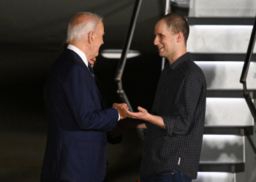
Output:
<instances>
[{"instance_id":1,"label":"dark plaid sleeve on the younger man's near arm, rolled at the forearm","mask_svg":"<svg viewBox=\"0 0 256 182\"><path fill-rule=\"evenodd\" d=\"M162 116L168 135L173 135L173 133L184 135L188 132L197 108L200 92L200 79L195 74L184 76L176 91L173 102L174 112L170 115Z\"/></svg>"}]
</instances>

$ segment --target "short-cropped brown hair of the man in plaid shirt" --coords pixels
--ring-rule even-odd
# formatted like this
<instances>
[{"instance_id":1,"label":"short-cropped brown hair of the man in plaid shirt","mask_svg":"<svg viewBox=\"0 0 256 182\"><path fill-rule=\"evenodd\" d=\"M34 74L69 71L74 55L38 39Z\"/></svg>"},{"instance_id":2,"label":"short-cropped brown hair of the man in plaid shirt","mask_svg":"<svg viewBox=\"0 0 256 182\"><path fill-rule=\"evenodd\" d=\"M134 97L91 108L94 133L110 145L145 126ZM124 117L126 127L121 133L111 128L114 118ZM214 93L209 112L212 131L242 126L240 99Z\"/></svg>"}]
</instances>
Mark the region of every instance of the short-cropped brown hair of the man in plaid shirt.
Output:
<instances>
[{"instance_id":1,"label":"short-cropped brown hair of the man in plaid shirt","mask_svg":"<svg viewBox=\"0 0 256 182\"><path fill-rule=\"evenodd\" d=\"M165 21L168 31L183 33L185 44L187 44L187 39L189 38L189 24L184 17L175 13L169 13L162 17L161 20Z\"/></svg>"}]
</instances>

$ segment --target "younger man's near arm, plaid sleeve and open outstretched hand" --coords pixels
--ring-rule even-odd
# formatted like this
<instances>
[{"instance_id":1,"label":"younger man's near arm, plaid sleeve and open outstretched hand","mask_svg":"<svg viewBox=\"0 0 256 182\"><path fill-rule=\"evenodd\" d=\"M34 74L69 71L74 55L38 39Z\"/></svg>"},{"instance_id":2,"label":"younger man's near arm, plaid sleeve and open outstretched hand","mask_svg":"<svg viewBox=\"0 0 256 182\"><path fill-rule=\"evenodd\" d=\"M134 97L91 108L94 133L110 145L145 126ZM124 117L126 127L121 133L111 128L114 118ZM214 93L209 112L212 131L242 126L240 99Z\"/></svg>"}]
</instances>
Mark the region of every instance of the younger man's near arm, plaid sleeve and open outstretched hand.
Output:
<instances>
[{"instance_id":1,"label":"younger man's near arm, plaid sleeve and open outstretched hand","mask_svg":"<svg viewBox=\"0 0 256 182\"><path fill-rule=\"evenodd\" d=\"M169 135L173 133L184 135L189 130L192 116L197 107L198 98L200 97L201 85L195 75L190 74L178 87L178 95L175 103L176 112L171 115L155 116L148 114L145 108L138 107L137 113L130 112L127 108L127 116L135 119L143 119L146 122L155 124L167 130Z\"/></svg>"}]
</instances>

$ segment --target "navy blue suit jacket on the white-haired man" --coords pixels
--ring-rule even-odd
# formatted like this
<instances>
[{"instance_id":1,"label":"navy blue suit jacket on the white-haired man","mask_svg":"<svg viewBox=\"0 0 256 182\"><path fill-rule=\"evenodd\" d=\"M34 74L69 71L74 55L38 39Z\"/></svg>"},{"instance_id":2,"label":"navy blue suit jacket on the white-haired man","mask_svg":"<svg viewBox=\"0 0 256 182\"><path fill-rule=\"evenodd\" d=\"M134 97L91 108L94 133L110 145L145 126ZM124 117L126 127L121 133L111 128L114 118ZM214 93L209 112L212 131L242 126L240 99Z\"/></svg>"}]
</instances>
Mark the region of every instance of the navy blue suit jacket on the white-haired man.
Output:
<instances>
[{"instance_id":1,"label":"navy blue suit jacket on the white-haired man","mask_svg":"<svg viewBox=\"0 0 256 182\"><path fill-rule=\"evenodd\" d=\"M107 130L118 122L116 108L102 110L95 79L83 60L64 50L45 84L48 141L41 178L103 181L107 164Z\"/></svg>"}]
</instances>

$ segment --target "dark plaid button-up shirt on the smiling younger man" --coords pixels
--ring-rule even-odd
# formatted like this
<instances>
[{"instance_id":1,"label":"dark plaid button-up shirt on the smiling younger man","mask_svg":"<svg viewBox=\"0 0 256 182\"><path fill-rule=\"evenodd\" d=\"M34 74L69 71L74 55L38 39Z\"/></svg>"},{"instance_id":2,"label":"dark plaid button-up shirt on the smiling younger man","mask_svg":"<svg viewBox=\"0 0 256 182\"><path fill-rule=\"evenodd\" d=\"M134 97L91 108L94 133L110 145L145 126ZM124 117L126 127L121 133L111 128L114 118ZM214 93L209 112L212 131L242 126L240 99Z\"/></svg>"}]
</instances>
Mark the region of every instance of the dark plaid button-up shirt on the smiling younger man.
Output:
<instances>
[{"instance_id":1,"label":"dark plaid button-up shirt on the smiling younger man","mask_svg":"<svg viewBox=\"0 0 256 182\"><path fill-rule=\"evenodd\" d=\"M167 65L159 79L151 114L166 129L146 123L140 169L159 173L176 169L197 178L206 114L206 79L189 52Z\"/></svg>"}]
</instances>

